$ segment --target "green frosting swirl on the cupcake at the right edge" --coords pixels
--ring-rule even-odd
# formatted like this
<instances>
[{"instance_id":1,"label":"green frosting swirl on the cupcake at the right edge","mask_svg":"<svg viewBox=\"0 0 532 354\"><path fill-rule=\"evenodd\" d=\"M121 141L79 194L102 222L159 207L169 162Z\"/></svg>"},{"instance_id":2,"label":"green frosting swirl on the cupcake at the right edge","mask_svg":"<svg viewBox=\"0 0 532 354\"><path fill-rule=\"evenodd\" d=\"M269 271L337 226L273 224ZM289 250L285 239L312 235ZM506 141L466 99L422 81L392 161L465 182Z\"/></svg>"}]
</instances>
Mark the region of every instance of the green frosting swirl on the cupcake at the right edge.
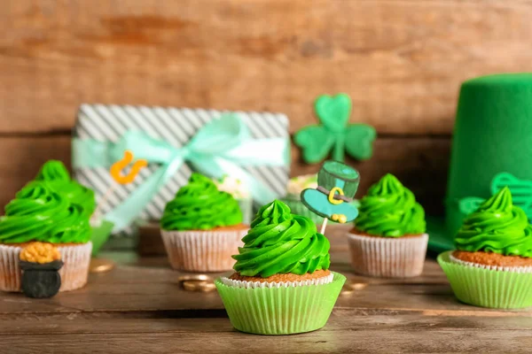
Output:
<instances>
[{"instance_id":1,"label":"green frosting swirl on the cupcake at the right edge","mask_svg":"<svg viewBox=\"0 0 532 354\"><path fill-rule=\"evenodd\" d=\"M505 187L469 214L455 238L458 250L532 257L532 226Z\"/></svg>"}]
</instances>

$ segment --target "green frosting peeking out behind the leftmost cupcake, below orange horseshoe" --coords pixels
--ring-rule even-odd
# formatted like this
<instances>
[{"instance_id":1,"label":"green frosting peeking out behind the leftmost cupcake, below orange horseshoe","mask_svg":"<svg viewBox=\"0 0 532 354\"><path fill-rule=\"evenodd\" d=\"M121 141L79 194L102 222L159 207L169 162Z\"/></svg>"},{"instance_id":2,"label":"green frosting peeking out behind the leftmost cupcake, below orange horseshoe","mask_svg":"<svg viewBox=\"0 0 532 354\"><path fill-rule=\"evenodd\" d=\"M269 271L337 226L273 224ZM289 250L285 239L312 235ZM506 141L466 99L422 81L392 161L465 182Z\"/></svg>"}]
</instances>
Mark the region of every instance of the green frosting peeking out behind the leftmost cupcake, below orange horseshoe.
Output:
<instances>
[{"instance_id":1,"label":"green frosting peeking out behind the leftmost cupcake, below orange horseshoe","mask_svg":"<svg viewBox=\"0 0 532 354\"><path fill-rule=\"evenodd\" d=\"M96 207L94 191L83 187L70 178L70 173L65 165L58 160L46 162L35 178L36 181L45 181L50 188L65 195L72 203L82 206L83 212L91 215Z\"/></svg>"}]
</instances>

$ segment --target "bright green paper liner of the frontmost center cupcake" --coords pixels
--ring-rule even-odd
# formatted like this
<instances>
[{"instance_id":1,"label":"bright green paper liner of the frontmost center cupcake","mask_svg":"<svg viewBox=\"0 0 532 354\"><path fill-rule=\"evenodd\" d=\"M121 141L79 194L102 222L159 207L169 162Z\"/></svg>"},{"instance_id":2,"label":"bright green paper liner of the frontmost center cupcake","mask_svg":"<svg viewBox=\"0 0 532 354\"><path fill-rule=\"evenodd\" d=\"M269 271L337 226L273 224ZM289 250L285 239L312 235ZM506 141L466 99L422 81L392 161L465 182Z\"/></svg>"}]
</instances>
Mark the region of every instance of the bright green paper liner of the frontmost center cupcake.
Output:
<instances>
[{"instance_id":1,"label":"bright green paper liner of the frontmost center cupcake","mask_svg":"<svg viewBox=\"0 0 532 354\"><path fill-rule=\"evenodd\" d=\"M325 326L346 277L323 285L238 288L215 281L231 324L255 335L293 335Z\"/></svg>"}]
</instances>

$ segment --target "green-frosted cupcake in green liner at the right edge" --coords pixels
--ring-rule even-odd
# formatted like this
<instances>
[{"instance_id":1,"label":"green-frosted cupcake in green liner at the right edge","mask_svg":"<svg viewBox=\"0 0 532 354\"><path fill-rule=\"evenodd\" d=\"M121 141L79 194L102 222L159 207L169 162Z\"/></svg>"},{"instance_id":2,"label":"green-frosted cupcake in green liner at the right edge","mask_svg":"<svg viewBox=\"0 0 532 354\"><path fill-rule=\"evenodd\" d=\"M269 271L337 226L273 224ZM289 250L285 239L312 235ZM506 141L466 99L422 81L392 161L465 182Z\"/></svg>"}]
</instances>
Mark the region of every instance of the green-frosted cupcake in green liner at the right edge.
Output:
<instances>
[{"instance_id":1,"label":"green-frosted cupcake in green liner at the right edge","mask_svg":"<svg viewBox=\"0 0 532 354\"><path fill-rule=\"evenodd\" d=\"M438 256L458 300L490 308L532 305L532 227L504 188L469 214L457 250Z\"/></svg>"}]
</instances>

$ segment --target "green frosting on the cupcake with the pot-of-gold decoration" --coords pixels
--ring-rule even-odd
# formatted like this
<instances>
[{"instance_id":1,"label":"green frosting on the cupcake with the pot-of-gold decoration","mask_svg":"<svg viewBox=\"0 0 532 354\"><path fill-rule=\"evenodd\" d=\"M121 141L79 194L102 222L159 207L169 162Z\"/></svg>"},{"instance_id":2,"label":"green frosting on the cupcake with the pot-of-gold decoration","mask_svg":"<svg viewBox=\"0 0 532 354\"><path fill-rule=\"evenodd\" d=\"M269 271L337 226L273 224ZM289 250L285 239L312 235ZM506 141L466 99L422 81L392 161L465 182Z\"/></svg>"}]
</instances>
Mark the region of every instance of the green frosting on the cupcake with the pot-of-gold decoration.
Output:
<instances>
[{"instance_id":1,"label":"green frosting on the cupcake with the pot-of-gold decoration","mask_svg":"<svg viewBox=\"0 0 532 354\"><path fill-rule=\"evenodd\" d=\"M0 242L85 243L89 217L80 205L54 192L47 183L31 181L5 206L0 218Z\"/></svg>"}]
</instances>

